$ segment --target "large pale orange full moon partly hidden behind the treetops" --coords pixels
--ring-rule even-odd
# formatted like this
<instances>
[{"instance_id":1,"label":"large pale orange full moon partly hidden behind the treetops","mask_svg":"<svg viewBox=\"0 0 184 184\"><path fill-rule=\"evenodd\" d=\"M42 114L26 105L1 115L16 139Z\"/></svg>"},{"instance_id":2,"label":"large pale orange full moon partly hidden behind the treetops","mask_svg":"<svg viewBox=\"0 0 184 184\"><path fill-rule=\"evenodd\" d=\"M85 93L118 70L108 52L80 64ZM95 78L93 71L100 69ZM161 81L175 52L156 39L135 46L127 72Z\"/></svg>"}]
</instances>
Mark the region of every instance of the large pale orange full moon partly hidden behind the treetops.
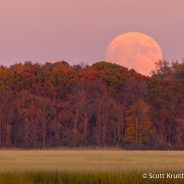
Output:
<instances>
[{"instance_id":1,"label":"large pale orange full moon partly hidden behind the treetops","mask_svg":"<svg viewBox=\"0 0 184 184\"><path fill-rule=\"evenodd\" d=\"M162 50L152 37L129 32L119 35L109 44L106 60L150 75L155 62L162 60Z\"/></svg>"}]
</instances>

